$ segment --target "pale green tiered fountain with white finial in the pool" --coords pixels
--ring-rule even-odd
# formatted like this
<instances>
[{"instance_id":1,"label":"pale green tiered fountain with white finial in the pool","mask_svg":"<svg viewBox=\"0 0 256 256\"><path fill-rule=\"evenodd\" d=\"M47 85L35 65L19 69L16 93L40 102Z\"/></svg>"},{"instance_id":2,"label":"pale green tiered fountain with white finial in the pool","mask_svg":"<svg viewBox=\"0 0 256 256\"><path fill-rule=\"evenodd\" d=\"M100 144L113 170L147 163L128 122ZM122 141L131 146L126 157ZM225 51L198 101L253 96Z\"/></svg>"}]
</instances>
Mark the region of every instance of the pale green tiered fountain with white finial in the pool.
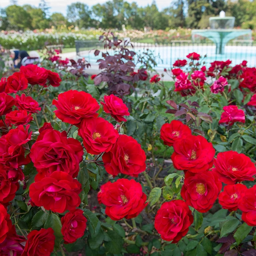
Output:
<instances>
[{"instance_id":1,"label":"pale green tiered fountain with white finial in the pool","mask_svg":"<svg viewBox=\"0 0 256 256\"><path fill-rule=\"evenodd\" d=\"M224 54L224 48L228 41L241 35L252 37L251 29L234 29L235 17L226 17L225 12L221 11L220 16L210 17L210 29L193 29L192 40L195 35L209 38L216 44L216 54Z\"/></svg>"}]
</instances>

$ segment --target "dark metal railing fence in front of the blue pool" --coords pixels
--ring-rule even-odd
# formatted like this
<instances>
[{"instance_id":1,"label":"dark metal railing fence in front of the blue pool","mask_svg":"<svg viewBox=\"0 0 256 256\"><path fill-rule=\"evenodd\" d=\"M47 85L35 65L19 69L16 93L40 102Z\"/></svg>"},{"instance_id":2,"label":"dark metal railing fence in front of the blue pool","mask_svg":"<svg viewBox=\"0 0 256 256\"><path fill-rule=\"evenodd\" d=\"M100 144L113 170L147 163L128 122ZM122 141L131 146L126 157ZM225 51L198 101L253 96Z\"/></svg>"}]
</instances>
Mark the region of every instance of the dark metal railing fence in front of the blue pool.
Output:
<instances>
[{"instance_id":1,"label":"dark metal railing fence in front of the blue pool","mask_svg":"<svg viewBox=\"0 0 256 256\"><path fill-rule=\"evenodd\" d=\"M225 46L224 54L216 54L216 46L211 41L193 42L192 40L174 40L168 43L141 43L131 42L133 50L137 53L153 52L157 63L157 68L171 68L177 59L186 59L186 55L197 52L205 56L203 61L206 66L215 60L232 60L232 65L240 64L243 60L248 61L248 66L256 66L256 42L252 40L232 40ZM103 43L91 41L75 41L76 54L84 57L88 62L96 62L101 55L94 56L94 50L102 50ZM113 51L107 50L110 54ZM136 60L135 60L136 61Z\"/></svg>"}]
</instances>

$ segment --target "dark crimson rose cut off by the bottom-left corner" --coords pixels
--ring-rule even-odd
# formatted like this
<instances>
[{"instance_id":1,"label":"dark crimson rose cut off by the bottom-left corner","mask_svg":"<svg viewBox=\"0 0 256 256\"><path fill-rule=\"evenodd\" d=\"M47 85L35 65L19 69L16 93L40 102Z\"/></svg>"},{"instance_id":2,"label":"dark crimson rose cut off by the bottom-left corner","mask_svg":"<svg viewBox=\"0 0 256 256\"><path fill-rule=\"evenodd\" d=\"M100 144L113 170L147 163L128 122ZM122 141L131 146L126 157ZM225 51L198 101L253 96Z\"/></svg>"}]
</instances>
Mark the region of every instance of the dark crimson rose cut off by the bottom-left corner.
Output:
<instances>
[{"instance_id":1,"label":"dark crimson rose cut off by the bottom-left corner","mask_svg":"<svg viewBox=\"0 0 256 256\"><path fill-rule=\"evenodd\" d=\"M20 256L24 250L23 245L27 240L23 236L18 236L15 226L12 225L11 229L7 233L5 240L0 243L0 255L1 256Z\"/></svg>"}]
</instances>

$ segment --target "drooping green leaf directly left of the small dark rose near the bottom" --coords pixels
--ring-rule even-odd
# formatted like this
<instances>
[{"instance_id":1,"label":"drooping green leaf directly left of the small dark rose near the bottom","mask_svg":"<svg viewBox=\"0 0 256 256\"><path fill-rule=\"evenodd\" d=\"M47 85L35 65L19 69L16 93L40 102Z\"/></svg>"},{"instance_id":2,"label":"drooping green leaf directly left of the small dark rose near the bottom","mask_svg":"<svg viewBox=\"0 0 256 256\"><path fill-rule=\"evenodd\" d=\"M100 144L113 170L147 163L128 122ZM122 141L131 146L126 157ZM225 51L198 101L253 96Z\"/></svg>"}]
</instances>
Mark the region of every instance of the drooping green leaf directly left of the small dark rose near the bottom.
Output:
<instances>
[{"instance_id":1,"label":"drooping green leaf directly left of the small dark rose near the bottom","mask_svg":"<svg viewBox=\"0 0 256 256\"><path fill-rule=\"evenodd\" d=\"M44 228L52 228L54 230L55 248L59 248L59 244L63 238L61 234L62 225L59 216L54 213L49 214L46 222L44 223Z\"/></svg>"}]
</instances>

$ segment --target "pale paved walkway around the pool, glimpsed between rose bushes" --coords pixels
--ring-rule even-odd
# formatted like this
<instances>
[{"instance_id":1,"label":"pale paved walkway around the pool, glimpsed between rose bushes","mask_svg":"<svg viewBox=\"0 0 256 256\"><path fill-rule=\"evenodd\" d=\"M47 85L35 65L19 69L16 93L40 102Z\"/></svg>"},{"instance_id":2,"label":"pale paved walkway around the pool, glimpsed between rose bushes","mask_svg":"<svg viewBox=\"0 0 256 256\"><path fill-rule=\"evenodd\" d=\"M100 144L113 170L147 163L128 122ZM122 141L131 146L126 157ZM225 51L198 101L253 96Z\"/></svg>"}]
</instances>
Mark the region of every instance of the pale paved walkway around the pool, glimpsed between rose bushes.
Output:
<instances>
[{"instance_id":1,"label":"pale paved walkway around the pool, glimpsed between rose bushes","mask_svg":"<svg viewBox=\"0 0 256 256\"><path fill-rule=\"evenodd\" d=\"M75 61L77 61L80 58L79 56L76 55L76 52L60 53L59 55L61 56L62 59L68 58L68 59L73 59ZM173 81L172 77L169 76L166 72L164 72L162 68L161 69L156 68L156 70L160 74L160 76L162 75L162 73L164 74L164 77L161 76L162 81ZM98 64L91 64L91 67L87 69L87 73L90 75L100 73ZM155 74L156 72L153 72L151 76Z\"/></svg>"}]
</instances>

